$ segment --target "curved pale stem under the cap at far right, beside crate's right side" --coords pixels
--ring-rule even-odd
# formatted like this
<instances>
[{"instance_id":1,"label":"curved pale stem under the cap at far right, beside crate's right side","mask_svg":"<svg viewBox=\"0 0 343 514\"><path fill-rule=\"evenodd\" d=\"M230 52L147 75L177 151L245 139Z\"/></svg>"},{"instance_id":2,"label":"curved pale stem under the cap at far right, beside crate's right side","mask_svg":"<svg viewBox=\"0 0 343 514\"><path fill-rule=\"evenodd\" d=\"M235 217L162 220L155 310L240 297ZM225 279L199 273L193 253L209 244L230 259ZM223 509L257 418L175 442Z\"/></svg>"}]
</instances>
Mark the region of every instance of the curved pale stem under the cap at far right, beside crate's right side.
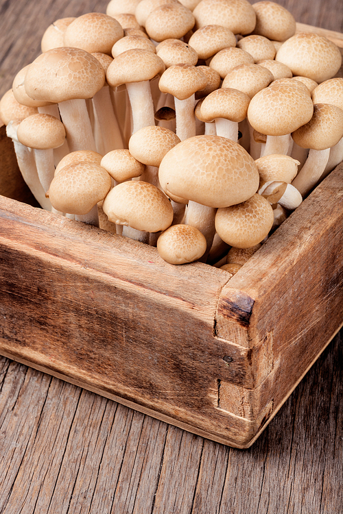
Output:
<instances>
[{"instance_id":1,"label":"curved pale stem under the cap at far right, beside crate's right side","mask_svg":"<svg viewBox=\"0 0 343 514\"><path fill-rule=\"evenodd\" d=\"M320 180L329 160L330 149L309 150L309 156L298 175L293 180L292 185L296 187L303 197L311 191Z\"/></svg>"}]
</instances>

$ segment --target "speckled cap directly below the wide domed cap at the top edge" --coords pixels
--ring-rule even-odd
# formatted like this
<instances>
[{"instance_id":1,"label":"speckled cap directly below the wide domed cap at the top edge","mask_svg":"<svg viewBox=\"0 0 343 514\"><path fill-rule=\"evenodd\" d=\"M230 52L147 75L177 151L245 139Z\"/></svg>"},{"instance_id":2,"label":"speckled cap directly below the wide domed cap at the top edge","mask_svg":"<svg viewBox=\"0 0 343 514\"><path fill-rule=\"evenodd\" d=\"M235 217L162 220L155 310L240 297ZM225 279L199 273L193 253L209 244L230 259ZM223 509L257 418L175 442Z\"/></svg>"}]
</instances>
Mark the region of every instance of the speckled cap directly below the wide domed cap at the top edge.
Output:
<instances>
[{"instance_id":1,"label":"speckled cap directly below the wide domed cap at the top edge","mask_svg":"<svg viewBox=\"0 0 343 514\"><path fill-rule=\"evenodd\" d=\"M204 25L189 38L189 45L198 53L199 59L209 59L223 48L235 47L235 34L222 25Z\"/></svg>"}]
</instances>

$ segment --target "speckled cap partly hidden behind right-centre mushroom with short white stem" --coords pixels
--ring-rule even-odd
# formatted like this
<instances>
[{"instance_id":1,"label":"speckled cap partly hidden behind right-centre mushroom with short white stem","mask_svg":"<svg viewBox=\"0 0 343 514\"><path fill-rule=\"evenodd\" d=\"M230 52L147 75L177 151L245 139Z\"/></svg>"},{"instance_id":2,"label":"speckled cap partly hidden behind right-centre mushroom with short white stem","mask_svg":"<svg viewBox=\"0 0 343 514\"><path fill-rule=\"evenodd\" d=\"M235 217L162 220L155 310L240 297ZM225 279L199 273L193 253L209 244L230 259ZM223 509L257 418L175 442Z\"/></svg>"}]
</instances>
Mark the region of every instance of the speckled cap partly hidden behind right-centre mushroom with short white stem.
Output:
<instances>
[{"instance_id":1,"label":"speckled cap partly hidden behind right-centre mushroom with short white stem","mask_svg":"<svg viewBox=\"0 0 343 514\"><path fill-rule=\"evenodd\" d=\"M241 64L226 75L222 87L239 89L252 98L273 80L272 72L267 68L259 64Z\"/></svg>"}]
</instances>

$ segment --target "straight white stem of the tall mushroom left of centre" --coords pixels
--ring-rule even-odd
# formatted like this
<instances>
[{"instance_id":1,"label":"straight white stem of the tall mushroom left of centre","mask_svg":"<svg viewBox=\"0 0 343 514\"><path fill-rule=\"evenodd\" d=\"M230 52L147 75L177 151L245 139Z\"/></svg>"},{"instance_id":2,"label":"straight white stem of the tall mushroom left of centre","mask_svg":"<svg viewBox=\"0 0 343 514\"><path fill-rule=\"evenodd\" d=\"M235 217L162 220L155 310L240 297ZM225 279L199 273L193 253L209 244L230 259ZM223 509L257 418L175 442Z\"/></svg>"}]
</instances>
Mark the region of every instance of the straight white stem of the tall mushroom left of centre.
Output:
<instances>
[{"instance_id":1,"label":"straight white stem of the tall mushroom left of centre","mask_svg":"<svg viewBox=\"0 0 343 514\"><path fill-rule=\"evenodd\" d=\"M130 82L126 84L130 98L133 128L132 134L143 127L155 125L154 103L150 88L150 81Z\"/></svg>"}]
</instances>

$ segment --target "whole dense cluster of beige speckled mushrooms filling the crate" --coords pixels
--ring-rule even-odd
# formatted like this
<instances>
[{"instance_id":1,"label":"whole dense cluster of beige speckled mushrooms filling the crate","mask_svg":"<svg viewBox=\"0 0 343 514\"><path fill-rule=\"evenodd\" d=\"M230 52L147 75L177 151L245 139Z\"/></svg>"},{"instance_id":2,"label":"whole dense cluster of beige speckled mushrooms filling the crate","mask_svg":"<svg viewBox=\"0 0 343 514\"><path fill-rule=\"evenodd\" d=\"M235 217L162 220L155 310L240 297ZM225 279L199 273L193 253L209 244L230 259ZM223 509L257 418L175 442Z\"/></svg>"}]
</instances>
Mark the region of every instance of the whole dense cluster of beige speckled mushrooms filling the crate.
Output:
<instances>
[{"instance_id":1,"label":"whole dense cluster of beige speckled mushrooms filling the crate","mask_svg":"<svg viewBox=\"0 0 343 514\"><path fill-rule=\"evenodd\" d=\"M42 206L236 273L343 158L340 49L272 1L52 23L0 117Z\"/></svg>"}]
</instances>

